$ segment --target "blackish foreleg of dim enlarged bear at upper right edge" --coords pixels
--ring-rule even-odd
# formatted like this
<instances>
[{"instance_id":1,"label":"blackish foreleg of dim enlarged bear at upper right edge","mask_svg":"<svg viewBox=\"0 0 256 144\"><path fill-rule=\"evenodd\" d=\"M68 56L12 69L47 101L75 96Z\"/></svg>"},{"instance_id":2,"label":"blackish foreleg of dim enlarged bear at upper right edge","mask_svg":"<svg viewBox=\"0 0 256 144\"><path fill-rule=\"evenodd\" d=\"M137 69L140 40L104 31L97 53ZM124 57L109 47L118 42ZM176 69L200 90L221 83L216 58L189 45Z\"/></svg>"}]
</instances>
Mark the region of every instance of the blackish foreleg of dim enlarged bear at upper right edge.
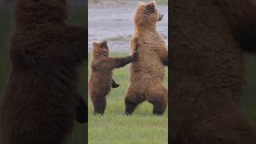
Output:
<instances>
[{"instance_id":1,"label":"blackish foreleg of dim enlarged bear at upper right edge","mask_svg":"<svg viewBox=\"0 0 256 144\"><path fill-rule=\"evenodd\" d=\"M230 30L234 40L245 52L256 53L256 1L214 0Z\"/></svg>"}]
</instances>

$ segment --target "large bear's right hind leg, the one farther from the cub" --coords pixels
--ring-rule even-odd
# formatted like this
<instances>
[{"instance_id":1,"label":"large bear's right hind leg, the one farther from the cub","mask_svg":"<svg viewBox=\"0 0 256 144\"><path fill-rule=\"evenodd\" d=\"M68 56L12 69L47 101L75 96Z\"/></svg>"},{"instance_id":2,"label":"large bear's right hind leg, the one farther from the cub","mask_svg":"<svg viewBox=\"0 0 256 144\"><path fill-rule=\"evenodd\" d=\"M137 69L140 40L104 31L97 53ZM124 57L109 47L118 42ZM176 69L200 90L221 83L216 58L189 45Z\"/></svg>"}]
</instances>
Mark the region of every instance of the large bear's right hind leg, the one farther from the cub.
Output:
<instances>
[{"instance_id":1,"label":"large bear's right hind leg, the one farther from the cub","mask_svg":"<svg viewBox=\"0 0 256 144\"><path fill-rule=\"evenodd\" d=\"M168 90L162 84L154 84L146 90L146 100L153 104L153 114L162 115L166 111Z\"/></svg>"}]
</instances>

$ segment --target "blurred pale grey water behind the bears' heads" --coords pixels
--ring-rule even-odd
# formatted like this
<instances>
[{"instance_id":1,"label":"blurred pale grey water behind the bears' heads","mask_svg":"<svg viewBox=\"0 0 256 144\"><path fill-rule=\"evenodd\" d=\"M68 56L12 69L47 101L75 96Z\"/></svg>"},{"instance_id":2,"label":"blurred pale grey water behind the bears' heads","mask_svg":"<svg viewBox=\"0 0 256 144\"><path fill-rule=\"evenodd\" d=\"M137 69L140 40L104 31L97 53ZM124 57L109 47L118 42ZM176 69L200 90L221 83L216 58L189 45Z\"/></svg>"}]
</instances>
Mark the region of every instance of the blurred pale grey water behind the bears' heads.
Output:
<instances>
[{"instance_id":1,"label":"blurred pale grey water behind the bears' heads","mask_svg":"<svg viewBox=\"0 0 256 144\"><path fill-rule=\"evenodd\" d=\"M158 11L164 14L157 30L168 44L168 6L166 1L156 1ZM111 51L127 52L134 33L134 12L138 6L135 0L91 0L88 7L88 49L93 42L108 41Z\"/></svg>"}]
</instances>

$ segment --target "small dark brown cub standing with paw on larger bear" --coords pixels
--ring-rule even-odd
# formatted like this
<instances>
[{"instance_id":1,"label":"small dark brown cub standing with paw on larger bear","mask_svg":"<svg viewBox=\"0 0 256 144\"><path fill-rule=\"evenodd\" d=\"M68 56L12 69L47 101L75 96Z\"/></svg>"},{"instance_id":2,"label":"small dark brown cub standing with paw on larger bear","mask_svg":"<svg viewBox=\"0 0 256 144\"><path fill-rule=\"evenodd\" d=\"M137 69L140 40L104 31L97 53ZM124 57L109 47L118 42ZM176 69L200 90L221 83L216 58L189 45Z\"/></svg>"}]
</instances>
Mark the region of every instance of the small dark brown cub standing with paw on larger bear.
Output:
<instances>
[{"instance_id":1,"label":"small dark brown cub standing with paw on larger bear","mask_svg":"<svg viewBox=\"0 0 256 144\"><path fill-rule=\"evenodd\" d=\"M108 55L109 49L106 41L94 42L93 59L91 61L92 73L89 80L89 94L94 105L94 114L104 114L106 94L109 93L111 86L113 88L118 86L112 79L114 68L126 66L138 57L137 52L126 58L109 58Z\"/></svg>"}]
</instances>

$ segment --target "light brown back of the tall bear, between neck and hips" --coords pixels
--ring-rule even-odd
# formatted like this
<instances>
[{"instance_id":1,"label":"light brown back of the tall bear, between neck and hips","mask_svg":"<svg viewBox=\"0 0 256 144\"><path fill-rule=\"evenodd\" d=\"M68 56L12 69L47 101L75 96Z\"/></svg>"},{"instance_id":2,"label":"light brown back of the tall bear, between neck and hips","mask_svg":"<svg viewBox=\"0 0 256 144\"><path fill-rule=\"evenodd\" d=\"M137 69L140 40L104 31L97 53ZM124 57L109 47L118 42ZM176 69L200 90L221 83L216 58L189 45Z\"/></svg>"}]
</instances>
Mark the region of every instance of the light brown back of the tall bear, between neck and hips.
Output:
<instances>
[{"instance_id":1,"label":"light brown back of the tall bear, between neck and hips","mask_svg":"<svg viewBox=\"0 0 256 144\"><path fill-rule=\"evenodd\" d=\"M165 47L161 36L156 32L134 34L138 38L138 61L130 64L130 76L142 81L149 78L164 77L164 66L158 54L158 49ZM166 47L165 47L166 48Z\"/></svg>"}]
</instances>

